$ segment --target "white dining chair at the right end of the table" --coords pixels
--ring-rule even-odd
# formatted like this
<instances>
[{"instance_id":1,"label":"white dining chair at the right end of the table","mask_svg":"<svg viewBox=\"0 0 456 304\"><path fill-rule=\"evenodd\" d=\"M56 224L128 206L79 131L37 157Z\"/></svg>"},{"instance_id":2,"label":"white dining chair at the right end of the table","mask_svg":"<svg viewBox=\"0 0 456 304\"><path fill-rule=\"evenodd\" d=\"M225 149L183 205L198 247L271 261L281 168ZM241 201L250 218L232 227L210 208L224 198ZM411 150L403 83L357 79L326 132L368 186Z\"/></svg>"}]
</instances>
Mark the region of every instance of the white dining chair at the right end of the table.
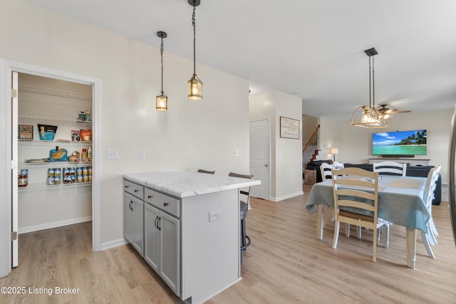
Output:
<instances>
[{"instance_id":1,"label":"white dining chair at the right end of the table","mask_svg":"<svg viewBox=\"0 0 456 304\"><path fill-rule=\"evenodd\" d=\"M423 239L423 244L426 248L427 255L431 258L435 258L435 256L430 246L437 245L437 239L435 239L435 236L439 234L437 228L435 227L434 221L432 220L432 200L434 199L434 191L437 179L439 178L440 169L442 169L441 164L430 169L429 173L427 174L425 192L423 194L423 201L429 210L430 218L426 223L427 232L420 230L420 234L421 239Z\"/></svg>"}]
</instances>

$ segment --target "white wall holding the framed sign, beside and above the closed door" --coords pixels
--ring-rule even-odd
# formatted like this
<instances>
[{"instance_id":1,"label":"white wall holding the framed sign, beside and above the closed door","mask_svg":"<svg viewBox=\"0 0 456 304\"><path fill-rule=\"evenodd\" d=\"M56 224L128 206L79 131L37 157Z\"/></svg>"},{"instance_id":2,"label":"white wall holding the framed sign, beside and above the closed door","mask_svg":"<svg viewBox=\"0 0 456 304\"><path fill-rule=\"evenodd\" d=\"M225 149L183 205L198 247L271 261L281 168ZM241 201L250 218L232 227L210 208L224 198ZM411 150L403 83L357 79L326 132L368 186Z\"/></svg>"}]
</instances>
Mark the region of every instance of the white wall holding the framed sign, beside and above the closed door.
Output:
<instances>
[{"instance_id":1,"label":"white wall holding the framed sign, beside and above the closed door","mask_svg":"<svg viewBox=\"0 0 456 304\"><path fill-rule=\"evenodd\" d=\"M250 120L269 118L271 122L271 200L302 194L302 134L299 140L280 137L281 116L299 120L301 127L301 99L271 91L252 95L249 105Z\"/></svg>"}]
</instances>

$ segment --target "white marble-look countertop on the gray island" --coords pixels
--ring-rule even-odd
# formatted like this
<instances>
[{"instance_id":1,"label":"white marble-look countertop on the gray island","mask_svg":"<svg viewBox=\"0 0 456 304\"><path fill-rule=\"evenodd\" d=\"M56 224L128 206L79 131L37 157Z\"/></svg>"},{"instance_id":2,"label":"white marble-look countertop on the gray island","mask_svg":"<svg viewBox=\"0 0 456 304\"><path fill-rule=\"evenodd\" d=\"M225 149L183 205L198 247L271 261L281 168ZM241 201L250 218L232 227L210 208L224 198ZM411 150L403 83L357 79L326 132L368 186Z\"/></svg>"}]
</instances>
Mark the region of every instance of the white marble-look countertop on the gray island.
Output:
<instances>
[{"instance_id":1,"label":"white marble-look countertop on the gray island","mask_svg":"<svg viewBox=\"0 0 456 304\"><path fill-rule=\"evenodd\" d=\"M261 184L261 181L256 179L190 171L130 173L123 174L123 178L177 197L221 192Z\"/></svg>"}]
</instances>

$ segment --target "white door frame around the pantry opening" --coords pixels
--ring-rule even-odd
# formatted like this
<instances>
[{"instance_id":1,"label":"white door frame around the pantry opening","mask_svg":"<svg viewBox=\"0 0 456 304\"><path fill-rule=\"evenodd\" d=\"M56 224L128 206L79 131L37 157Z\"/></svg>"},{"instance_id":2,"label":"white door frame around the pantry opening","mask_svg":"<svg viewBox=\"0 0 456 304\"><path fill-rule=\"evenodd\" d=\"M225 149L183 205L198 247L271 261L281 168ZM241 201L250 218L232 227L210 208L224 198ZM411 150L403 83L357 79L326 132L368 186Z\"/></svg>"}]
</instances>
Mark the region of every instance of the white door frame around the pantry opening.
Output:
<instances>
[{"instance_id":1,"label":"white door frame around the pantry opening","mask_svg":"<svg viewBox=\"0 0 456 304\"><path fill-rule=\"evenodd\" d=\"M43 68L0 58L0 278L11 273L11 72L38 75L92 85L93 183L92 248L101 250L100 207L100 85L101 80L86 75Z\"/></svg>"}]
</instances>

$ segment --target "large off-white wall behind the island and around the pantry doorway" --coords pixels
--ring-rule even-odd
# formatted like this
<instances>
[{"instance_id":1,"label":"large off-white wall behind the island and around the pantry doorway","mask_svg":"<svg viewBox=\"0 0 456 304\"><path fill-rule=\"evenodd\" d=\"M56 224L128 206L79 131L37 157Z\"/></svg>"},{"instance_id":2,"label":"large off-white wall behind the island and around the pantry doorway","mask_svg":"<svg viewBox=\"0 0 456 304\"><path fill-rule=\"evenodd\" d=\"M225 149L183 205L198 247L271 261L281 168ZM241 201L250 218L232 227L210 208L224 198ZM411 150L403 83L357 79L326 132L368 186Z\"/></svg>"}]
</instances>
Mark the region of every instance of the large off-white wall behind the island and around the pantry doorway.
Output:
<instances>
[{"instance_id":1,"label":"large off-white wall behind the island and around the pantry doorway","mask_svg":"<svg viewBox=\"0 0 456 304\"><path fill-rule=\"evenodd\" d=\"M199 167L216 174L248 170L247 80L197 63L204 99L190 101L192 60L165 51L169 110L158 112L159 49L22 1L2 1L1 6L0 58L101 80L102 244L123 238L123 173ZM105 151L113 148L119 159L105 159ZM146 159L138 158L140 149L146 150Z\"/></svg>"}]
</instances>

